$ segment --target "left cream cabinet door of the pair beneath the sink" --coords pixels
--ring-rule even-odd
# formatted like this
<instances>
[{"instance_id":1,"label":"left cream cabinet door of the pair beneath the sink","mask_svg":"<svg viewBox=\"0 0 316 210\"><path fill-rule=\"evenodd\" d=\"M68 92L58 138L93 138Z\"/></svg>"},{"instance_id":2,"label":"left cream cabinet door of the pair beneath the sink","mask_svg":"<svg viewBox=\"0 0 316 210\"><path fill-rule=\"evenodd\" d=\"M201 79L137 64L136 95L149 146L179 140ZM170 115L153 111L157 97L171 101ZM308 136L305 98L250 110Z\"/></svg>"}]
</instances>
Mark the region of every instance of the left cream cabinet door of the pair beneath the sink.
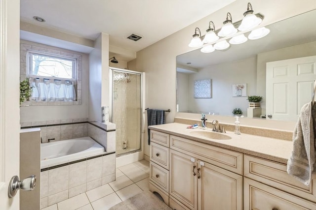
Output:
<instances>
[{"instance_id":1,"label":"left cream cabinet door of the pair beneath the sink","mask_svg":"<svg viewBox=\"0 0 316 210\"><path fill-rule=\"evenodd\" d=\"M197 161L190 155L170 150L169 194L197 210Z\"/></svg>"}]
</instances>

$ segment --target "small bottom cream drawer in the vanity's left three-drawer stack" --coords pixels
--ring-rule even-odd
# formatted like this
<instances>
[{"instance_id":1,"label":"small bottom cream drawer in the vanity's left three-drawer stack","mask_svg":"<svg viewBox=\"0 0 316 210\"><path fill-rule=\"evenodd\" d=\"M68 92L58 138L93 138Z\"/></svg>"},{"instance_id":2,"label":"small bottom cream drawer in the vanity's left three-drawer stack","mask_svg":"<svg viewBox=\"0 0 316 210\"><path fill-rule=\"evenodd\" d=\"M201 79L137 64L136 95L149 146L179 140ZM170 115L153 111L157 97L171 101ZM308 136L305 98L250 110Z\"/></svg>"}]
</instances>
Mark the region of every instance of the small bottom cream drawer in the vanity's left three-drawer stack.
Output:
<instances>
[{"instance_id":1,"label":"small bottom cream drawer in the vanity's left three-drawer stack","mask_svg":"<svg viewBox=\"0 0 316 210\"><path fill-rule=\"evenodd\" d=\"M150 161L150 180L169 193L169 171Z\"/></svg>"}]
</instances>

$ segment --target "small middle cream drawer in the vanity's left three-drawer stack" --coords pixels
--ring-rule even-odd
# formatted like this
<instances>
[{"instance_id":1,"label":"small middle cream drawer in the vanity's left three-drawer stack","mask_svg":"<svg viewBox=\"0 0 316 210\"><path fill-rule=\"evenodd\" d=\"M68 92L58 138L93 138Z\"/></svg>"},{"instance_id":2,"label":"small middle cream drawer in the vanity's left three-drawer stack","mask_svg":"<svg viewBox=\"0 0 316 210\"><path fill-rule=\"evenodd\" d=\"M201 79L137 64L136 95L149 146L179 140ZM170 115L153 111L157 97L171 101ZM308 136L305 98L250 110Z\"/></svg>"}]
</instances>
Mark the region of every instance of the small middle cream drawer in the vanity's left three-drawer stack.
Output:
<instances>
[{"instance_id":1,"label":"small middle cream drawer in the vanity's left three-drawer stack","mask_svg":"<svg viewBox=\"0 0 316 210\"><path fill-rule=\"evenodd\" d=\"M169 148L163 147L156 143L151 143L150 159L158 165L169 170Z\"/></svg>"}]
</instances>

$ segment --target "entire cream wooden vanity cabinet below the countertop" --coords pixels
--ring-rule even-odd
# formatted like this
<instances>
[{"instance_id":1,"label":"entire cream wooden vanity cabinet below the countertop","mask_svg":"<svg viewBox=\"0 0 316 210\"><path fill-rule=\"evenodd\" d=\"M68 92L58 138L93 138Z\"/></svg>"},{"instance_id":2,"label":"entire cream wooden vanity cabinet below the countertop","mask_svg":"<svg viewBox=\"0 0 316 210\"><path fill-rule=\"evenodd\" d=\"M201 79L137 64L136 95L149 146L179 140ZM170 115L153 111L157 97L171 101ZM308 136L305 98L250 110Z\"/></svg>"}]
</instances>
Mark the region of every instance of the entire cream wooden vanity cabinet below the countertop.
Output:
<instances>
[{"instance_id":1,"label":"entire cream wooden vanity cabinet below the countertop","mask_svg":"<svg viewBox=\"0 0 316 210\"><path fill-rule=\"evenodd\" d=\"M161 131L151 129L150 190L171 209L316 210L316 179L307 187L284 163Z\"/></svg>"}]
</instances>

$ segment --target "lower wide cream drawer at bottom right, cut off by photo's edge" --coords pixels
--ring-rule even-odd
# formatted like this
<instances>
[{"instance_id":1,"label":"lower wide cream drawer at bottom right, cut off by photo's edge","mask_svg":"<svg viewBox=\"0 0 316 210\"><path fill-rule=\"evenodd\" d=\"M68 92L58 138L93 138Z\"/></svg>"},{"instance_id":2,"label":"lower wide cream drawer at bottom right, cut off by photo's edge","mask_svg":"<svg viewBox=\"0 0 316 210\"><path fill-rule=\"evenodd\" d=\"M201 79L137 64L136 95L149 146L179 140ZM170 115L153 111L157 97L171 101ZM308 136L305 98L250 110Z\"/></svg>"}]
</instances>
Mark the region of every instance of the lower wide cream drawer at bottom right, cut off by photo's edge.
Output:
<instances>
[{"instance_id":1,"label":"lower wide cream drawer at bottom right, cut off by photo's edge","mask_svg":"<svg viewBox=\"0 0 316 210\"><path fill-rule=\"evenodd\" d=\"M244 210L315 210L316 204L266 184L244 178Z\"/></svg>"}]
</instances>

